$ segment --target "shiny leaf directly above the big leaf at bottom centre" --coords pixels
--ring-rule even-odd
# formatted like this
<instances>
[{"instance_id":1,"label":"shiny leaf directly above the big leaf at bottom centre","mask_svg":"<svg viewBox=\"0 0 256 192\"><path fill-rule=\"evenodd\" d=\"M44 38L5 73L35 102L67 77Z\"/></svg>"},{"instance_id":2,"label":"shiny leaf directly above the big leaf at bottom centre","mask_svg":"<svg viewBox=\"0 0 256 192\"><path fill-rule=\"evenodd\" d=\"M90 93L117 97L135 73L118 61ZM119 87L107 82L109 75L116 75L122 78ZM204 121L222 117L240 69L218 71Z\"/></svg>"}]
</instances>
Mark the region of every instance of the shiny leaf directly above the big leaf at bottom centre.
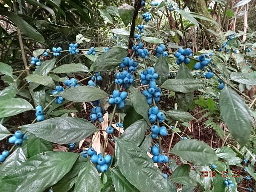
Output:
<instances>
[{"instance_id":1,"label":"shiny leaf directly above the big leaf at bottom centre","mask_svg":"<svg viewBox=\"0 0 256 192\"><path fill-rule=\"evenodd\" d=\"M125 129L120 139L139 146L145 137L147 128L148 125L144 119L138 120Z\"/></svg>"}]
</instances>

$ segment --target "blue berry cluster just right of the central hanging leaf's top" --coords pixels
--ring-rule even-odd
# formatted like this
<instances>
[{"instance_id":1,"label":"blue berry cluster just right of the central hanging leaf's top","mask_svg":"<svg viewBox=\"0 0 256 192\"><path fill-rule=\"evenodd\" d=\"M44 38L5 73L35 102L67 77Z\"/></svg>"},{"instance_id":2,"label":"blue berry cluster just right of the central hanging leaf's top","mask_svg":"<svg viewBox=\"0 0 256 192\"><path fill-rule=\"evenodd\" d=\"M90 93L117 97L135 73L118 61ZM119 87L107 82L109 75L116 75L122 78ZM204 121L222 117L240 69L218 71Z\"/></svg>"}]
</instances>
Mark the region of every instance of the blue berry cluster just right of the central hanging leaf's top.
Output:
<instances>
[{"instance_id":1,"label":"blue berry cluster just right of the central hanging leaf's top","mask_svg":"<svg viewBox=\"0 0 256 192\"><path fill-rule=\"evenodd\" d=\"M149 84L149 88L147 90L143 90L143 95L147 98L148 105L152 105L153 99L155 102L160 101L161 89L157 87L155 81L151 81Z\"/></svg>"}]
</instances>

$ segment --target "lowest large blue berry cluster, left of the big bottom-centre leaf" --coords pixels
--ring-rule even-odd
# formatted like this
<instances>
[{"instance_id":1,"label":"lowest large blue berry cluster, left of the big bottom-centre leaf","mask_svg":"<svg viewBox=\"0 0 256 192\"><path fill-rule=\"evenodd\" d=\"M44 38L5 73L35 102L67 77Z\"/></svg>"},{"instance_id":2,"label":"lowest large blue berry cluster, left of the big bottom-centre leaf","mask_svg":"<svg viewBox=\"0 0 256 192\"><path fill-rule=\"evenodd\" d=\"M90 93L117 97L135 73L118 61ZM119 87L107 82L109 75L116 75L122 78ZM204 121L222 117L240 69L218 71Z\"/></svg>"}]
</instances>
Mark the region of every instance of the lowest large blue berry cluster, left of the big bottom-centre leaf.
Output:
<instances>
[{"instance_id":1,"label":"lowest large blue berry cluster, left of the big bottom-centre leaf","mask_svg":"<svg viewBox=\"0 0 256 192\"><path fill-rule=\"evenodd\" d=\"M108 166L112 160L111 155L106 155L105 157L102 157L101 153L97 155L97 151L95 151L92 147L88 148L86 151L81 152L81 156L87 157L87 155L90 156L91 162L96 164L96 169L99 172L104 173L108 171Z\"/></svg>"}]
</instances>

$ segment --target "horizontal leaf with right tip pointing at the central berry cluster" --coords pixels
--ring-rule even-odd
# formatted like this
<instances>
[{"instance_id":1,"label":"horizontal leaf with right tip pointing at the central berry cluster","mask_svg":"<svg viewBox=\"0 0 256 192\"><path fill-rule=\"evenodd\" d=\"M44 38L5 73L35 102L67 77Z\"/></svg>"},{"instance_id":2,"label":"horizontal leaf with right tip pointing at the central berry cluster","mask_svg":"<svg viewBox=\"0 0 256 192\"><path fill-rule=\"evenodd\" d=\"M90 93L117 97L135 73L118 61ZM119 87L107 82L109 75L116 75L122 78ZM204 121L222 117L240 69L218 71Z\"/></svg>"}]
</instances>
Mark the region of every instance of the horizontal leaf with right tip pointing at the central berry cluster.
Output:
<instances>
[{"instance_id":1,"label":"horizontal leaf with right tip pointing at the central berry cluster","mask_svg":"<svg viewBox=\"0 0 256 192\"><path fill-rule=\"evenodd\" d=\"M65 89L61 93L55 94L55 96L62 96L72 102L92 102L108 97L108 93L96 87L79 86Z\"/></svg>"}]
</instances>

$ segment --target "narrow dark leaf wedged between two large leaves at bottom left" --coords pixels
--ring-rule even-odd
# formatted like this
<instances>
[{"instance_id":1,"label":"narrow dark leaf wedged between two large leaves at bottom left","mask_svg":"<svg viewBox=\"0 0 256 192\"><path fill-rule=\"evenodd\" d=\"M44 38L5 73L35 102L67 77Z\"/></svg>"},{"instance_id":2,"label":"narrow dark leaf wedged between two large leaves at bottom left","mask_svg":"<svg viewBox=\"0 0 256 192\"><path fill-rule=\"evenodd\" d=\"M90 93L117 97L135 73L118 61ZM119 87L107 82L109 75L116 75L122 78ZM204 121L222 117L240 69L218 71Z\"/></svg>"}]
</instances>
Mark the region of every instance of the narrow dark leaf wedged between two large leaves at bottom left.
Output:
<instances>
[{"instance_id":1,"label":"narrow dark leaf wedged between two large leaves at bottom left","mask_svg":"<svg viewBox=\"0 0 256 192\"><path fill-rule=\"evenodd\" d=\"M86 163L86 158L79 156L76 163L73 165L70 172L68 172L61 180L58 181L53 187L55 192L68 192L76 183L77 176Z\"/></svg>"}]
</instances>

